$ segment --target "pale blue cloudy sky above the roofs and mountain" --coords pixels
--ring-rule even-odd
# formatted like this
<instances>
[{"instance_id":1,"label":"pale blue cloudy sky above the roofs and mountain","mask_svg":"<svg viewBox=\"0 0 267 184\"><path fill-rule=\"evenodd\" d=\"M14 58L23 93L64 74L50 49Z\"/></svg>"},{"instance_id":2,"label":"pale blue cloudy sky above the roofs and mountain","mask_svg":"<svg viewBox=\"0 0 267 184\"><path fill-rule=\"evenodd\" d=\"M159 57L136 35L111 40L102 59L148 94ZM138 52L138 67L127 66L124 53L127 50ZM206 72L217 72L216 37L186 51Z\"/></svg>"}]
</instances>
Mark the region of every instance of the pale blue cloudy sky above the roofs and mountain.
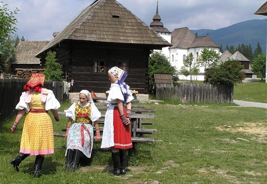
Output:
<instances>
[{"instance_id":1,"label":"pale blue cloudy sky above the roofs and mountain","mask_svg":"<svg viewBox=\"0 0 267 184\"><path fill-rule=\"evenodd\" d=\"M2 0L18 12L17 34L28 41L51 40L52 33L67 24L93 0ZM155 15L157 0L117 0L147 25ZM159 0L164 26L175 28L219 29L235 23L263 19L253 15L266 0Z\"/></svg>"}]
</instances>

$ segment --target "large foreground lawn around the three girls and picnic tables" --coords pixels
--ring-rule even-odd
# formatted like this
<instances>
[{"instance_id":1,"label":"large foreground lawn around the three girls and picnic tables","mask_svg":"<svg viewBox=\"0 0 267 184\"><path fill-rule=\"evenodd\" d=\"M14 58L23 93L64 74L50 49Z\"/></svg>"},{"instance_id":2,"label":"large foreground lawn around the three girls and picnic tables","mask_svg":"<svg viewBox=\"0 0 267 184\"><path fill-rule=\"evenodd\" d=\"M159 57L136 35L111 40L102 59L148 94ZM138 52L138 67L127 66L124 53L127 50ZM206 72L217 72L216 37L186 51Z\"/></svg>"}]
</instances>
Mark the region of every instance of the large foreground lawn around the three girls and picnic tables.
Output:
<instances>
[{"instance_id":1,"label":"large foreground lawn around the three girls and picnic tables","mask_svg":"<svg viewBox=\"0 0 267 184\"><path fill-rule=\"evenodd\" d=\"M68 107L69 104L63 105ZM9 161L19 150L23 121L11 134L14 118L0 124L0 183L267 183L267 113L262 108L221 105L178 106L145 104L156 109L148 120L157 132L152 144L138 144L138 152L129 159L129 171L115 177L106 171L112 165L108 150L94 144L91 166L75 173L64 172L66 139L55 138L55 153L44 160L42 176L33 178L34 157L28 157L15 172ZM66 127L61 116L54 132ZM237 139L244 138L246 140Z\"/></svg>"}]
</instances>

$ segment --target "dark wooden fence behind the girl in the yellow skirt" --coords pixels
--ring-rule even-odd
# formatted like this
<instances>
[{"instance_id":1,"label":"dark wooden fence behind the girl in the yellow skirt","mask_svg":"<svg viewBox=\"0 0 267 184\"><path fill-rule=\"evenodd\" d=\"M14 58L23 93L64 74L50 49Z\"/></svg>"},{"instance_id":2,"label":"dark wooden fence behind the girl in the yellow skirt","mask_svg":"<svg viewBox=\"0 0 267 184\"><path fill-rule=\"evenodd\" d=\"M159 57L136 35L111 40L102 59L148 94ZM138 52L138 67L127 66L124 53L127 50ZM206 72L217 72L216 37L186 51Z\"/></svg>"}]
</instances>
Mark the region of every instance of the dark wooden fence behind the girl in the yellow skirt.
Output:
<instances>
[{"instance_id":1,"label":"dark wooden fence behind the girl in the yellow skirt","mask_svg":"<svg viewBox=\"0 0 267 184\"><path fill-rule=\"evenodd\" d=\"M0 123L16 112L16 105L19 102L21 92L25 92L24 85L28 80L19 78L0 79ZM53 91L57 100L67 99L64 95L64 82L45 82L45 88Z\"/></svg>"}]
</instances>

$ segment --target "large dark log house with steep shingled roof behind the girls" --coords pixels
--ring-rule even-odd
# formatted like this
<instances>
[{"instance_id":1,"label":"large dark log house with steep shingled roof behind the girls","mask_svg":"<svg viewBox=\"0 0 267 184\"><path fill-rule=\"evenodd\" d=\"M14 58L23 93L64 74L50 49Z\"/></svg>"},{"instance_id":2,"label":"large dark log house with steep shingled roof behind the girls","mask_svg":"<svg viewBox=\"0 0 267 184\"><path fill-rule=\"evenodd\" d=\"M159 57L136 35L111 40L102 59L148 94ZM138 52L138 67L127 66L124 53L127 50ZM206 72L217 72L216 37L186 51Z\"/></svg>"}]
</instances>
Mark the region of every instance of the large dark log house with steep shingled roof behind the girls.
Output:
<instances>
[{"instance_id":1,"label":"large dark log house with steep shingled roof behind the girls","mask_svg":"<svg viewBox=\"0 0 267 184\"><path fill-rule=\"evenodd\" d=\"M107 72L113 66L126 70L126 82L139 93L148 93L150 50L170 44L116 0L96 0L55 36L36 57L57 52L74 92L105 92Z\"/></svg>"}]
</instances>

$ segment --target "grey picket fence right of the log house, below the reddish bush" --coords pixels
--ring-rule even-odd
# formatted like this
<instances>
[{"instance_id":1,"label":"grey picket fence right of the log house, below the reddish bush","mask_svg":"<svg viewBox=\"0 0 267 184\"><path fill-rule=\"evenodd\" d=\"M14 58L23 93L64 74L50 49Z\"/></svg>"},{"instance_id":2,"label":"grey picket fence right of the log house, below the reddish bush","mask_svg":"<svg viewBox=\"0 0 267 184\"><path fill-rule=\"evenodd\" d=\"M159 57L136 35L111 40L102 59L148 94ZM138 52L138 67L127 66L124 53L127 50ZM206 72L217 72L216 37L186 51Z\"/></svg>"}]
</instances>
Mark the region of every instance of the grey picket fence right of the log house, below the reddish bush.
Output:
<instances>
[{"instance_id":1,"label":"grey picket fence right of the log house, below the reddish bush","mask_svg":"<svg viewBox=\"0 0 267 184\"><path fill-rule=\"evenodd\" d=\"M173 88L157 88L156 98L183 103L233 103L234 86L178 84Z\"/></svg>"}]
</instances>

